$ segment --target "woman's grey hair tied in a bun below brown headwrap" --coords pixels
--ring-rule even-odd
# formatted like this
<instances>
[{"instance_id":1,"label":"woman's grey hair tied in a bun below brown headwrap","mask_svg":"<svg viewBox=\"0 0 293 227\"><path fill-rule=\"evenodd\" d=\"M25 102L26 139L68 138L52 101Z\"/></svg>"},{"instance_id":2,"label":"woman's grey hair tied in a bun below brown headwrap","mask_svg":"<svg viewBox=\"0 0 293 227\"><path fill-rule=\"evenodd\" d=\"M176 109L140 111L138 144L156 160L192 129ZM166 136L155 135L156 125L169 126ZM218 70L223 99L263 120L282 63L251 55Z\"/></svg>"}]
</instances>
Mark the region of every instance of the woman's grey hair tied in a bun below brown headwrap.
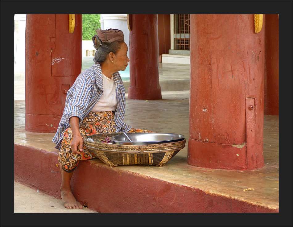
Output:
<instances>
[{"instance_id":1,"label":"woman's grey hair tied in a bun below brown headwrap","mask_svg":"<svg viewBox=\"0 0 293 227\"><path fill-rule=\"evenodd\" d=\"M106 60L110 52L116 54L122 48L122 43L124 43L124 41L102 43L102 41L97 38L96 46L100 46L97 48L93 61L101 64Z\"/></svg>"}]
</instances>

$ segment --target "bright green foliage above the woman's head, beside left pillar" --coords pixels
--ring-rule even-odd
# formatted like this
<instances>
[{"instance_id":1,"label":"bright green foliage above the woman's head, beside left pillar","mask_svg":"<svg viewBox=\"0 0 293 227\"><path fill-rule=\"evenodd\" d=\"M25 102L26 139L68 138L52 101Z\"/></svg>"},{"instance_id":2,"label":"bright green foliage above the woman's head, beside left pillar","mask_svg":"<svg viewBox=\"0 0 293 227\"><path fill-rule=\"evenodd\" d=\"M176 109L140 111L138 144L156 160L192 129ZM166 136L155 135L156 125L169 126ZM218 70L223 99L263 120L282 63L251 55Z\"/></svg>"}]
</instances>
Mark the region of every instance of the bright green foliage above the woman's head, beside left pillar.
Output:
<instances>
[{"instance_id":1,"label":"bright green foliage above the woman's head, beside left pillar","mask_svg":"<svg viewBox=\"0 0 293 227\"><path fill-rule=\"evenodd\" d=\"M82 40L92 40L96 29L101 29L101 14L82 14Z\"/></svg>"}]
</instances>

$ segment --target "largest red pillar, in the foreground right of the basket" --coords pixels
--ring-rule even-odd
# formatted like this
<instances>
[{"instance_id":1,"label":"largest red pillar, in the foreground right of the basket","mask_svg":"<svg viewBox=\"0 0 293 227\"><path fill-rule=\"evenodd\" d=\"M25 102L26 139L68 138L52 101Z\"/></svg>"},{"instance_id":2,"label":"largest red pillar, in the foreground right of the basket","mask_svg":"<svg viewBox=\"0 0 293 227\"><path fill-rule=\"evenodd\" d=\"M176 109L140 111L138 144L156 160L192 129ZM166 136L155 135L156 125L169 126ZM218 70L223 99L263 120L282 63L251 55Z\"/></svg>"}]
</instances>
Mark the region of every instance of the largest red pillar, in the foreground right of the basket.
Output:
<instances>
[{"instance_id":1,"label":"largest red pillar, in the foreground right of the basket","mask_svg":"<svg viewBox=\"0 0 293 227\"><path fill-rule=\"evenodd\" d=\"M254 14L193 14L190 24L188 164L263 167L264 26L254 33Z\"/></svg>"}]
</instances>

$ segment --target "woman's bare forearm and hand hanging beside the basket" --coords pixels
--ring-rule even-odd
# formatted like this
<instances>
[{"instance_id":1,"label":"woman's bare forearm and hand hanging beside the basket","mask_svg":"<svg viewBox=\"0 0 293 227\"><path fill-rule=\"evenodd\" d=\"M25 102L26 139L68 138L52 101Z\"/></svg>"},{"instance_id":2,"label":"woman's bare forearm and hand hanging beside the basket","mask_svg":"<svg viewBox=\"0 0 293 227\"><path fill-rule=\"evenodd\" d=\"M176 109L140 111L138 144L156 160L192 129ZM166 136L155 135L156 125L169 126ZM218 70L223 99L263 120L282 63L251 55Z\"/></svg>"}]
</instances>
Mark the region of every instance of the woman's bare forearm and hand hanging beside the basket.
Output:
<instances>
[{"instance_id":1,"label":"woman's bare forearm and hand hanging beside the basket","mask_svg":"<svg viewBox=\"0 0 293 227\"><path fill-rule=\"evenodd\" d=\"M78 117L71 117L69 119L70 128L72 130L72 141L71 141L71 150L72 154L78 154L80 155L82 152L83 147L83 138L80 135L79 132L79 118ZM79 147L79 150L77 148Z\"/></svg>"}]
</instances>

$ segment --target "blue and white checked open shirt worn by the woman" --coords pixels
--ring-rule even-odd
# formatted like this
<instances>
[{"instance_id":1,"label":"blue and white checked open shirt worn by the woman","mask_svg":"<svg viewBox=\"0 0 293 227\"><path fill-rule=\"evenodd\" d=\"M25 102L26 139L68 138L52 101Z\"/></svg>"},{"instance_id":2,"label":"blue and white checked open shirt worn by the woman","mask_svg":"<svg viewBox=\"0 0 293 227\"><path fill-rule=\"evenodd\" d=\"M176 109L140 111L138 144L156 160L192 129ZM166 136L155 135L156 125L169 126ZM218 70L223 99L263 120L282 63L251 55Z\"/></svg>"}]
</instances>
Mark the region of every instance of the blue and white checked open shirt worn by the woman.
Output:
<instances>
[{"instance_id":1,"label":"blue and white checked open shirt worn by the woman","mask_svg":"<svg viewBox=\"0 0 293 227\"><path fill-rule=\"evenodd\" d=\"M114 116L116 132L131 129L131 126L124 123L125 115L125 88L119 72L113 74L116 85L117 109ZM80 119L79 125L89 114L103 93L103 78L101 65L96 63L91 68L86 69L76 78L72 87L68 90L65 108L61 117L57 132L52 141L60 150L64 131L70 127L69 119L76 116Z\"/></svg>"}]
</instances>

